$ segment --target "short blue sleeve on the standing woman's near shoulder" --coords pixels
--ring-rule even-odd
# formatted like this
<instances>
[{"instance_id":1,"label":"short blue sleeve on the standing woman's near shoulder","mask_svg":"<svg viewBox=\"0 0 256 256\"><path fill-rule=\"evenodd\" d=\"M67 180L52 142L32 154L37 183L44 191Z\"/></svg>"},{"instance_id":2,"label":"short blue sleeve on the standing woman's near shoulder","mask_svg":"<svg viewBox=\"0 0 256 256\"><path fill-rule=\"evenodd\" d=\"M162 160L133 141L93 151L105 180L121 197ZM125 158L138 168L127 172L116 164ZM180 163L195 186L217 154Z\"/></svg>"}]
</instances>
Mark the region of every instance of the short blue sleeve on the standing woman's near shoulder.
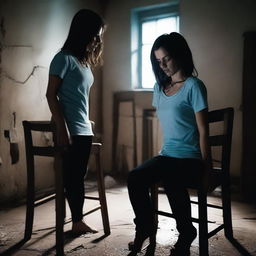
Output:
<instances>
[{"instance_id":1,"label":"short blue sleeve on the standing woman's near shoulder","mask_svg":"<svg viewBox=\"0 0 256 256\"><path fill-rule=\"evenodd\" d=\"M61 79L64 78L69 67L69 59L67 55L59 52L56 54L50 64L50 75L59 76Z\"/></svg>"}]
</instances>

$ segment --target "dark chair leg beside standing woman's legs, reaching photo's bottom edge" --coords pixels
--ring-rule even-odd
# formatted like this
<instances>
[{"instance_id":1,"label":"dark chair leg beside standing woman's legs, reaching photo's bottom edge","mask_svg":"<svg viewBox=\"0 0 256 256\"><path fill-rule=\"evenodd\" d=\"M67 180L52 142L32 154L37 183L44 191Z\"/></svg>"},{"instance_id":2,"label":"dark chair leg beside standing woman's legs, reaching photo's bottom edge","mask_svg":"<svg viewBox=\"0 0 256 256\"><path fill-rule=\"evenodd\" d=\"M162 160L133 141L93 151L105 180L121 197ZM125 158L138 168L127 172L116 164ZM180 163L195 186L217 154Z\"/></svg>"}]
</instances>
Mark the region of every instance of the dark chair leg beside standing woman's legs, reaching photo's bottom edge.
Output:
<instances>
[{"instance_id":1,"label":"dark chair leg beside standing woman's legs, reaching photo's bottom edge","mask_svg":"<svg viewBox=\"0 0 256 256\"><path fill-rule=\"evenodd\" d=\"M55 157L55 188L56 188L56 253L64 255L64 218L65 218L65 197L62 172L62 160L59 153Z\"/></svg>"}]
</instances>

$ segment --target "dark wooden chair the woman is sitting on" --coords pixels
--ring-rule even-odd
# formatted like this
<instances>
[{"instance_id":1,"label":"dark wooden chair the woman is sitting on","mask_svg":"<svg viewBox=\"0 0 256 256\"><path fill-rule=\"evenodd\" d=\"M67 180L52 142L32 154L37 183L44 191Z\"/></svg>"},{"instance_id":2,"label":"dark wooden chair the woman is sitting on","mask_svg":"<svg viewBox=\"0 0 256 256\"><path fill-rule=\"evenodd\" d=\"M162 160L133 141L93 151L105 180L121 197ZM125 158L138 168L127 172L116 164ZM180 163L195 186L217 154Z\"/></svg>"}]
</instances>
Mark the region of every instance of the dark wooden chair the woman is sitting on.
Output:
<instances>
[{"instance_id":1,"label":"dark wooden chair the woman is sitting on","mask_svg":"<svg viewBox=\"0 0 256 256\"><path fill-rule=\"evenodd\" d=\"M221 147L221 159L218 161L219 166L213 161L213 169L211 172L210 187L221 187L222 205L213 205L207 203L207 192L202 187L189 188L196 189L197 201L191 201L192 204L198 205L198 219L192 218L193 222L199 224L199 253L201 256L208 255L208 239L220 230L224 229L225 236L231 241L233 239L232 217L231 217L231 199L230 199L230 152L233 129L233 108L219 109L209 112L209 124L215 122L223 122L223 133L209 137L211 147ZM153 186L151 189L151 198L156 209L156 223L158 215L172 217L172 213L167 213L158 209L158 188L159 185ZM207 207L221 209L223 211L223 224L208 232L208 216Z\"/></svg>"}]
</instances>

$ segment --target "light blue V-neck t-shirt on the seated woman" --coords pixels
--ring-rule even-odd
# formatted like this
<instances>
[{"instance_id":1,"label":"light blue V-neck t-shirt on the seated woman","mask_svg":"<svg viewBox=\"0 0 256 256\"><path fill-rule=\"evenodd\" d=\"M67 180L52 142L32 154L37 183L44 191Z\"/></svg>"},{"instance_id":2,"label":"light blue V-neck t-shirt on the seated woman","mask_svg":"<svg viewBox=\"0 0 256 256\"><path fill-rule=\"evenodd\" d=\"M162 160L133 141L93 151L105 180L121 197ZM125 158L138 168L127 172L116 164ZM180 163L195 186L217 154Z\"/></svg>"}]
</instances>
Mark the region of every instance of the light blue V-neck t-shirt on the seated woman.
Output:
<instances>
[{"instance_id":1,"label":"light blue V-neck t-shirt on the seated woman","mask_svg":"<svg viewBox=\"0 0 256 256\"><path fill-rule=\"evenodd\" d=\"M154 86L153 103L163 132L160 155L201 158L195 113L208 107L205 85L189 77L177 93L167 96Z\"/></svg>"}]
</instances>

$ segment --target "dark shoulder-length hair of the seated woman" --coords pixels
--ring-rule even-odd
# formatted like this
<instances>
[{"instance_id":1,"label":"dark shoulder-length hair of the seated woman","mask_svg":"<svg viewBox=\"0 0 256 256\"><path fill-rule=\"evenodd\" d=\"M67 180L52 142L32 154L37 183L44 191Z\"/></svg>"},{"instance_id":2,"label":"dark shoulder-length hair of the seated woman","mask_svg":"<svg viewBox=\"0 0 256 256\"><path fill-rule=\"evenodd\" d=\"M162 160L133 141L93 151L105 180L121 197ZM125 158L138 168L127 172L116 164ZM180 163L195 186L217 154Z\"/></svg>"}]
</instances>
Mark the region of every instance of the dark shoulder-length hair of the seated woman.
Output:
<instances>
[{"instance_id":1,"label":"dark shoulder-length hair of the seated woman","mask_svg":"<svg viewBox=\"0 0 256 256\"><path fill-rule=\"evenodd\" d=\"M177 32L163 34L155 40L150 54L153 72L160 87L165 88L171 82L171 77L168 77L164 73L156 60L155 51L161 47L174 59L174 63L181 69L185 77L198 75L194 66L191 50L185 38Z\"/></svg>"}]
</instances>

